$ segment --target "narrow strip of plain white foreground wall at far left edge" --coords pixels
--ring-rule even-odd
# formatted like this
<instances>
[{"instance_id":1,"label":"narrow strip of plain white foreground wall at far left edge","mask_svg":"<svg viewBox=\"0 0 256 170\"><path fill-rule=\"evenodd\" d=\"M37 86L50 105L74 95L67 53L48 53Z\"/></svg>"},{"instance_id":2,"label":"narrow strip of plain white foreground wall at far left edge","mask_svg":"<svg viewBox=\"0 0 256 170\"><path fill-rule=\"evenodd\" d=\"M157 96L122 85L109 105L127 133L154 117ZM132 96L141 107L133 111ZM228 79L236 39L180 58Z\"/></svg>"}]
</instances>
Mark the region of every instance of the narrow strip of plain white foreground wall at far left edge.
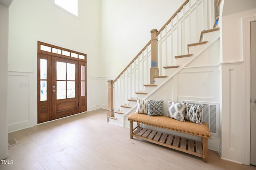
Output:
<instances>
[{"instance_id":1,"label":"narrow strip of plain white foreground wall at far left edge","mask_svg":"<svg viewBox=\"0 0 256 170\"><path fill-rule=\"evenodd\" d=\"M8 12L0 4L0 160L7 158Z\"/></svg>"}]
</instances>

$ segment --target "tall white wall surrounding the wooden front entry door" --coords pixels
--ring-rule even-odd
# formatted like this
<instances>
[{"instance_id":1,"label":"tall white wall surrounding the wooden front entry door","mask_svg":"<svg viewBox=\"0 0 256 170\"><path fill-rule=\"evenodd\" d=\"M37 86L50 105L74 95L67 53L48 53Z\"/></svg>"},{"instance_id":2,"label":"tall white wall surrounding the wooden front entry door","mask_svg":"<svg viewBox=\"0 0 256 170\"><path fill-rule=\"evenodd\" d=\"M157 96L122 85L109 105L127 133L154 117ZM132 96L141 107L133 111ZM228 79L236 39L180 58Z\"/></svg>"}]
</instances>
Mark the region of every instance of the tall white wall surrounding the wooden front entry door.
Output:
<instances>
[{"instance_id":1,"label":"tall white wall surrounding the wooden front entry door","mask_svg":"<svg viewBox=\"0 0 256 170\"><path fill-rule=\"evenodd\" d=\"M100 108L100 0L79 3L76 18L52 0L13 0L9 8L9 132L37 123L37 41L87 54L87 109ZM29 86L19 88L19 82Z\"/></svg>"}]
</instances>

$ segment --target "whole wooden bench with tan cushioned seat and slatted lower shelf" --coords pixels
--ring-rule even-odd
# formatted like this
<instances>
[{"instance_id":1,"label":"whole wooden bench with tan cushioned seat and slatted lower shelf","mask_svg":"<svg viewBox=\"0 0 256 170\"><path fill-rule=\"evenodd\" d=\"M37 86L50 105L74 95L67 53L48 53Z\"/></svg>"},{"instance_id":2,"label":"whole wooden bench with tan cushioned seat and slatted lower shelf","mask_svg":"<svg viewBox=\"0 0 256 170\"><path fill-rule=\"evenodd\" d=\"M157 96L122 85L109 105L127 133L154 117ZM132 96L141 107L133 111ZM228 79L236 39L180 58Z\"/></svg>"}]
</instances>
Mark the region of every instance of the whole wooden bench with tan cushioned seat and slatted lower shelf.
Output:
<instances>
[{"instance_id":1,"label":"whole wooden bench with tan cushioned seat and slatted lower shelf","mask_svg":"<svg viewBox=\"0 0 256 170\"><path fill-rule=\"evenodd\" d=\"M211 138L211 134L206 123L203 122L202 125L198 125L187 120L186 122L178 121L165 115L148 116L141 113L133 113L128 117L128 121L130 121L130 139L137 137L164 147L180 150L188 154L199 156L203 158L205 163L207 163L208 139ZM135 128L133 128L133 122L137 122L137 126ZM202 140L194 141L184 137L152 131L150 129L140 127L140 123L194 135L201 137Z\"/></svg>"}]
</instances>

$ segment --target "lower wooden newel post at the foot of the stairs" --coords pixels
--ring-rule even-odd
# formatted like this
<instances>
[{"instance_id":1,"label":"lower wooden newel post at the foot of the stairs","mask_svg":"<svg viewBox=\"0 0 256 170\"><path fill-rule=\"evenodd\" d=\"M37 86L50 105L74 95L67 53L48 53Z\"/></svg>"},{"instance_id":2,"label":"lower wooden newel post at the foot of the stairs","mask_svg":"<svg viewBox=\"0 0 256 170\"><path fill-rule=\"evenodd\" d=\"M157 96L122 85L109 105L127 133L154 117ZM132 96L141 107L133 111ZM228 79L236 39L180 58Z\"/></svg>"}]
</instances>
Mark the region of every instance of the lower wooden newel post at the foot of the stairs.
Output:
<instances>
[{"instance_id":1,"label":"lower wooden newel post at the foot of the stairs","mask_svg":"<svg viewBox=\"0 0 256 170\"><path fill-rule=\"evenodd\" d=\"M109 116L114 116L114 102L113 102L113 80L108 80L108 109L107 109L107 122L109 122Z\"/></svg>"}]
</instances>

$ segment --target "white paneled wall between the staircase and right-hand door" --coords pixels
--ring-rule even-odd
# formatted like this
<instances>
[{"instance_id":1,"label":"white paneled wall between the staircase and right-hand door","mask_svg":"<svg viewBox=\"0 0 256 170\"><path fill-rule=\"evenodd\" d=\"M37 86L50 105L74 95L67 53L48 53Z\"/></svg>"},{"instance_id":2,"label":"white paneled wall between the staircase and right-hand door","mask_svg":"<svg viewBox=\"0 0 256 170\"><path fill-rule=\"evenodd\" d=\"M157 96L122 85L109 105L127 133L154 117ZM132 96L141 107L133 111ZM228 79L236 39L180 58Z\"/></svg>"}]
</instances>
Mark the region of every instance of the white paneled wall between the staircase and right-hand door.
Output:
<instances>
[{"instance_id":1,"label":"white paneled wall between the staircase and right-hand door","mask_svg":"<svg viewBox=\"0 0 256 170\"><path fill-rule=\"evenodd\" d=\"M256 14L256 1L225 0L221 12L222 158L244 163L245 59L242 56L242 18ZM232 3L232 6L229 4ZM241 12L241 3L242 9ZM246 6L245 6L246 4ZM235 8L235 9L229 9ZM254 8L254 9L252 9ZM252 9L252 10L248 10ZM238 13L236 13L238 12ZM247 96L249 97L249 96ZM246 153L248 154L248 153Z\"/></svg>"}]
</instances>

